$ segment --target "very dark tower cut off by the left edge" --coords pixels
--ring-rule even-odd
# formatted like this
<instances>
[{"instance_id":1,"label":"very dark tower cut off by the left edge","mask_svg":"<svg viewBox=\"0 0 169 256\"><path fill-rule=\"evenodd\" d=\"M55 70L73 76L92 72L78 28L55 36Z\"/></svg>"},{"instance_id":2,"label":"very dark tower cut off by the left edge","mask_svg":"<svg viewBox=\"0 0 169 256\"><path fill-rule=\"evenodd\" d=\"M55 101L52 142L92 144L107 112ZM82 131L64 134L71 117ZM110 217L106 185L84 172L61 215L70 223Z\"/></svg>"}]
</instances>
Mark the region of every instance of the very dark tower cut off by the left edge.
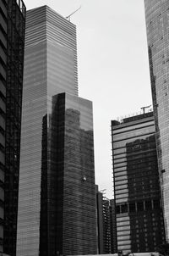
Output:
<instances>
[{"instance_id":1,"label":"very dark tower cut off by the left edge","mask_svg":"<svg viewBox=\"0 0 169 256\"><path fill-rule=\"evenodd\" d=\"M0 1L0 252L16 253L25 4Z\"/></svg>"}]
</instances>

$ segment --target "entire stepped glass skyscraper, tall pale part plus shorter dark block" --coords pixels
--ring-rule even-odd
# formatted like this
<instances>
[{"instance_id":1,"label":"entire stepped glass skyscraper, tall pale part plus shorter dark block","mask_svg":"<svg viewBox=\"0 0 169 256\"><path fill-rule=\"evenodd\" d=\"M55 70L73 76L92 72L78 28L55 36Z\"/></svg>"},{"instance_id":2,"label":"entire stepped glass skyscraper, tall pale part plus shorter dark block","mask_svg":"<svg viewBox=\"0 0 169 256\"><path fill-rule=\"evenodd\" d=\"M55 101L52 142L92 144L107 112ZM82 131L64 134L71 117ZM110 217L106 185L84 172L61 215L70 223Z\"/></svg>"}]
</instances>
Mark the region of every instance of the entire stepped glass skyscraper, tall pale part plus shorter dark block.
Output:
<instances>
[{"instance_id":1,"label":"entire stepped glass skyscraper, tall pale part plus shorter dark block","mask_svg":"<svg viewBox=\"0 0 169 256\"><path fill-rule=\"evenodd\" d=\"M17 256L95 254L92 103L78 97L76 28L27 12Z\"/></svg>"}]
</instances>

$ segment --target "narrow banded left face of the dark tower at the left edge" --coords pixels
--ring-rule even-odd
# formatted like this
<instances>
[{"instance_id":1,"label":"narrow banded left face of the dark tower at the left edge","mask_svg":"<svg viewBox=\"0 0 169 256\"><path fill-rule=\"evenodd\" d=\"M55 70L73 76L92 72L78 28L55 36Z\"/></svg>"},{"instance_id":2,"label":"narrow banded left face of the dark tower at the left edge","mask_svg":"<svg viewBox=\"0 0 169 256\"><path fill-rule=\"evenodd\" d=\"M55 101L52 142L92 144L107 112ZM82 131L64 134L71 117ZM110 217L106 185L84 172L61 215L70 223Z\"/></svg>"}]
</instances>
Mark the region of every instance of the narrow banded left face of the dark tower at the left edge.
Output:
<instances>
[{"instance_id":1,"label":"narrow banded left face of the dark tower at the left edge","mask_svg":"<svg viewBox=\"0 0 169 256\"><path fill-rule=\"evenodd\" d=\"M6 79L7 79L7 4L0 2L0 229L4 220L4 171L5 171L5 130L6 130ZM3 252L3 232L0 233L0 252Z\"/></svg>"}]
</instances>

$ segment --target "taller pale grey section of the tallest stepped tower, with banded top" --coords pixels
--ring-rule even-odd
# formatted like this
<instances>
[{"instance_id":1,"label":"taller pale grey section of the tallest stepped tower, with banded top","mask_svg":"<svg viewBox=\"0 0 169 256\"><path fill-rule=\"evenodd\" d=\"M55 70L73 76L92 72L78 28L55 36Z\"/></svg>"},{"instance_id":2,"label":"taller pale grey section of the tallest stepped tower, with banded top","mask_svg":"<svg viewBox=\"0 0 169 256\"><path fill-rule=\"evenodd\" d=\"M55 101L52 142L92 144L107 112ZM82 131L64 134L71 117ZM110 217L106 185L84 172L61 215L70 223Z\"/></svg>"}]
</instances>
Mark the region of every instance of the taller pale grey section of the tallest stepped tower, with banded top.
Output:
<instances>
[{"instance_id":1,"label":"taller pale grey section of the tallest stepped tower, with banded top","mask_svg":"<svg viewBox=\"0 0 169 256\"><path fill-rule=\"evenodd\" d=\"M46 180L51 170L47 148L52 97L60 92L77 94L75 57L75 25L47 6L26 13L17 234L17 253L21 256L39 255L41 242L46 245L44 255L53 250L53 238L48 233L53 226L47 215L41 215L42 209L46 213L47 195L41 194L41 186L50 189ZM40 233L51 239L43 242Z\"/></svg>"}]
</instances>

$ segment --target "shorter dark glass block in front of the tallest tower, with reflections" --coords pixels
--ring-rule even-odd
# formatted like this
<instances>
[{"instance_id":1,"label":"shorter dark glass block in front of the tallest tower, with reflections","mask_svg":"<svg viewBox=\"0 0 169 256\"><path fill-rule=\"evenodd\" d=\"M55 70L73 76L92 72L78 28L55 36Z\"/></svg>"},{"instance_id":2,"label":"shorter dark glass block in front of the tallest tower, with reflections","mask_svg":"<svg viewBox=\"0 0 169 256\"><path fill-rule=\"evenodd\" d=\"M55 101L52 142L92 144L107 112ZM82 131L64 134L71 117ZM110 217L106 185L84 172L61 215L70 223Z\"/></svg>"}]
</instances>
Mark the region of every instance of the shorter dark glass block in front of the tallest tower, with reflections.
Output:
<instances>
[{"instance_id":1,"label":"shorter dark glass block in front of the tallest tower, with reflections","mask_svg":"<svg viewBox=\"0 0 169 256\"><path fill-rule=\"evenodd\" d=\"M52 139L48 148L52 164L57 160L56 168L53 165L51 169L51 185L56 189L57 253L97 253L92 103L59 94L53 97L51 121L57 125L52 129L52 133L57 131L56 140Z\"/></svg>"}]
</instances>

